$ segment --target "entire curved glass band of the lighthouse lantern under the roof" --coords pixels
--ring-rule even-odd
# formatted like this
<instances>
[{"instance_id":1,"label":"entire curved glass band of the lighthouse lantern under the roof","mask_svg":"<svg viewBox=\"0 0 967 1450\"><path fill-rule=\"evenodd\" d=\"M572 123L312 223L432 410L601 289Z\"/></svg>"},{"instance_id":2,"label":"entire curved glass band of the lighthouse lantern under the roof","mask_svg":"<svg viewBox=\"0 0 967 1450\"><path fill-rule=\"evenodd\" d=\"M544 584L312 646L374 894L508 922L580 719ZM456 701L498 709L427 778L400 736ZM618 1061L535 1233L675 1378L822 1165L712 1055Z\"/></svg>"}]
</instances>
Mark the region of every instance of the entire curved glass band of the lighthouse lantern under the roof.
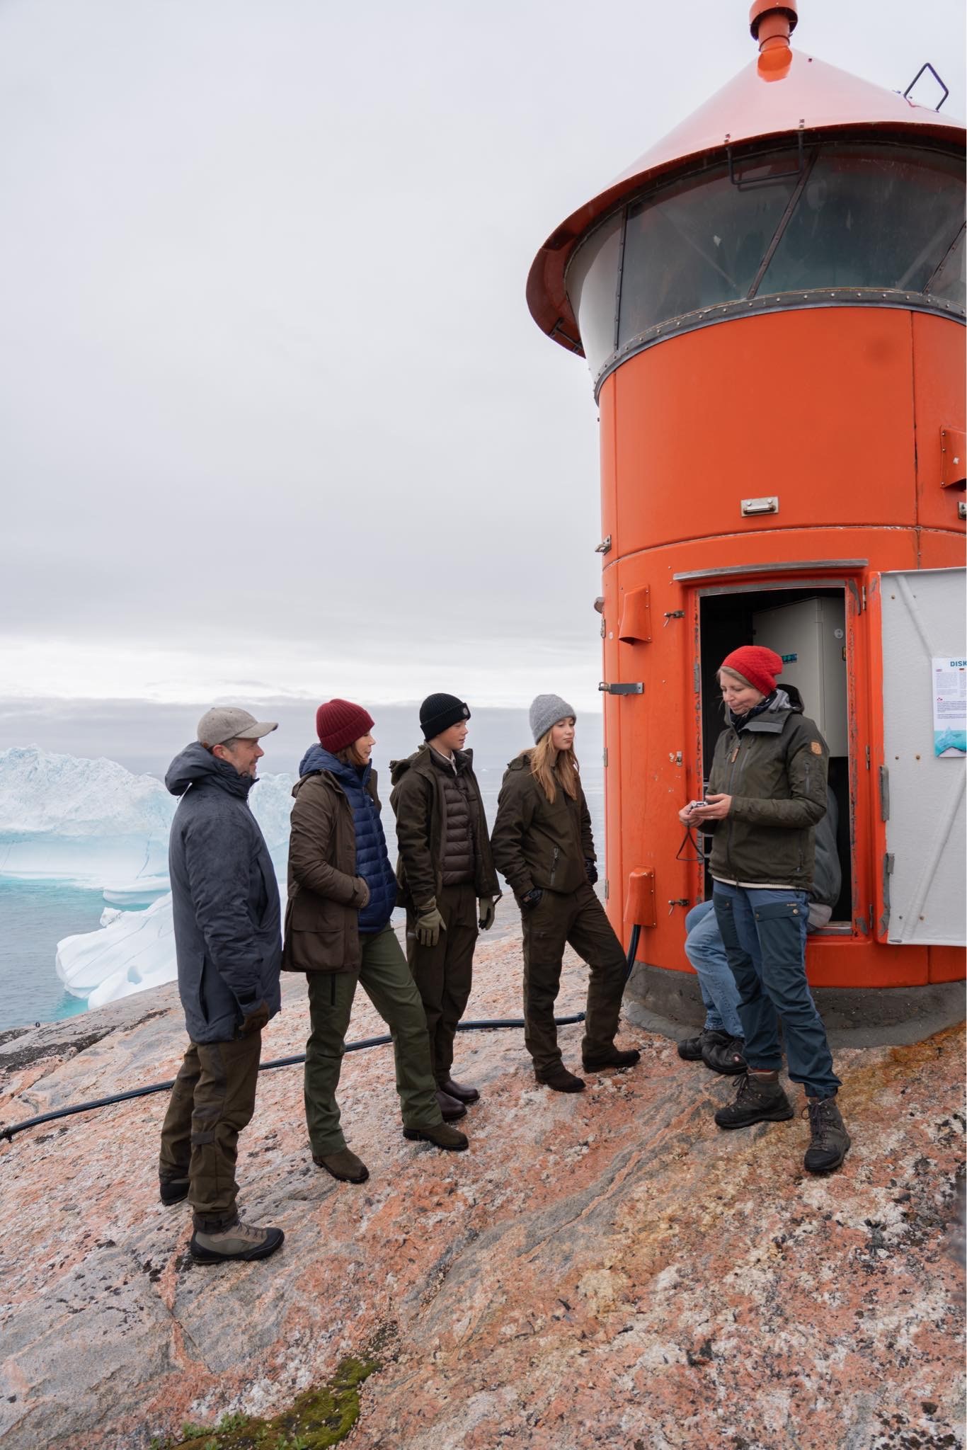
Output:
<instances>
[{"instance_id":1,"label":"entire curved glass band of the lighthouse lantern under the roof","mask_svg":"<svg viewBox=\"0 0 967 1450\"><path fill-rule=\"evenodd\" d=\"M680 319L684 331L751 297L792 307L803 293L855 289L866 300L890 291L910 304L919 293L928 310L963 310L963 164L942 151L783 148L639 194L577 248L567 293L594 377L616 352L616 302L622 355L661 341L664 323Z\"/></svg>"}]
</instances>

